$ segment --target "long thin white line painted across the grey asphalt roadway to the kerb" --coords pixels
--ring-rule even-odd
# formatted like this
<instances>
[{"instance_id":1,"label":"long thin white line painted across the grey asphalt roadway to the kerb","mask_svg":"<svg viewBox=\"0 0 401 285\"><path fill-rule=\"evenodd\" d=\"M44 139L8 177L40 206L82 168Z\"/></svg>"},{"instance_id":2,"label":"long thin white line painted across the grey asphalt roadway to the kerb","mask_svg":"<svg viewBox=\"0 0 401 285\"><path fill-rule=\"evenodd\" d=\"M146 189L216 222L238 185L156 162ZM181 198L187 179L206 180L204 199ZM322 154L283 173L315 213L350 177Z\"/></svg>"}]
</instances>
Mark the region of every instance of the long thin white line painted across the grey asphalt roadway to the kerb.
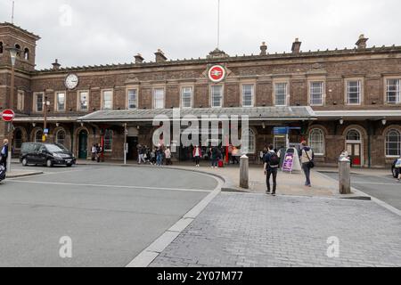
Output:
<instances>
[{"instance_id":1,"label":"long thin white line painted across the grey asphalt roadway to the kerb","mask_svg":"<svg viewBox=\"0 0 401 285\"><path fill-rule=\"evenodd\" d=\"M47 184L47 185L65 185L65 186L84 186L84 187L102 187L102 188L124 188L124 189L143 189L143 190L163 190L163 191L194 191L194 192L210 192L204 189L184 189L184 188L163 188L163 187L147 187L147 186L126 186L126 185L105 185L105 184L86 184L86 183L59 183L59 182L39 182L11 180L12 183L30 183L30 184Z\"/></svg>"}]
</instances>

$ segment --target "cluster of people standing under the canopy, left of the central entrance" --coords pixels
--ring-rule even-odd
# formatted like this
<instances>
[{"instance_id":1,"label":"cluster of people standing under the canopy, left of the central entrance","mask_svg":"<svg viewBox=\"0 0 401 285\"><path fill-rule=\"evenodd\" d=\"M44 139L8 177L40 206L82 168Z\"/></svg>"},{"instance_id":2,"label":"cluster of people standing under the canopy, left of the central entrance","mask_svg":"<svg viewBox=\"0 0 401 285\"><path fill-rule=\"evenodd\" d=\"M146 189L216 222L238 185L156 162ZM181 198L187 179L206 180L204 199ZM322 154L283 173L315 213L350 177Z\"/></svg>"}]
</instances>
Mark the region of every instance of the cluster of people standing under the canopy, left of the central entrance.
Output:
<instances>
[{"instance_id":1,"label":"cluster of people standing under the canopy, left of the central entrance","mask_svg":"<svg viewBox=\"0 0 401 285\"><path fill-rule=\"evenodd\" d=\"M138 164L150 163L155 166L162 166L166 164L167 166L173 165L171 161L171 149L169 147L164 147L160 145L151 149L146 145L139 144L137 146L138 151Z\"/></svg>"}]
</instances>

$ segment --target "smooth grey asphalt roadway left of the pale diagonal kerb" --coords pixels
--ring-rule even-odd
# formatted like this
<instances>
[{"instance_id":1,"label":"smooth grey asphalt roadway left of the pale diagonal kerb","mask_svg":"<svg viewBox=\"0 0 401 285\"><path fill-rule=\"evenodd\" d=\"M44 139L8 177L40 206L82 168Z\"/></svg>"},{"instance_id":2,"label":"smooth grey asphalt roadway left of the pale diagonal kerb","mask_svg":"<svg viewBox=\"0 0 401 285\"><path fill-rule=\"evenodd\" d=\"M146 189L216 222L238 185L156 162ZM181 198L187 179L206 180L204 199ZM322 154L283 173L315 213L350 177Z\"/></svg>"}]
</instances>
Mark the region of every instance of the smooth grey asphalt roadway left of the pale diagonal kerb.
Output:
<instances>
[{"instance_id":1,"label":"smooth grey asphalt roadway left of the pale diagonal kerb","mask_svg":"<svg viewBox=\"0 0 401 285\"><path fill-rule=\"evenodd\" d=\"M158 167L23 169L45 175L0 183L0 266L126 266L218 184Z\"/></svg>"}]
</instances>

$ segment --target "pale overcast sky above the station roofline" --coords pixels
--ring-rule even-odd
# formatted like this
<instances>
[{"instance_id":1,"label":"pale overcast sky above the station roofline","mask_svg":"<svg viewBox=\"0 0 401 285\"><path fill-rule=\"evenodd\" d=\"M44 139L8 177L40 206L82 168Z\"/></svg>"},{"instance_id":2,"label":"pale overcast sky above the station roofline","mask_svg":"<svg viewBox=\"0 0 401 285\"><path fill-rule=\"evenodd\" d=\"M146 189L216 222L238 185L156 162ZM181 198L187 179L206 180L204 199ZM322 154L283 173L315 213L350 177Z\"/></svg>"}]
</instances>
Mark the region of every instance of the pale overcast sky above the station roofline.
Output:
<instances>
[{"instance_id":1,"label":"pale overcast sky above the station roofline","mask_svg":"<svg viewBox=\"0 0 401 285\"><path fill-rule=\"evenodd\" d=\"M401 45L399 0L221 0L220 49L230 55L301 49ZM11 21L12 0L0 0L0 21ZM15 0L14 23L42 37L37 69L204 58L217 47L217 0Z\"/></svg>"}]
</instances>

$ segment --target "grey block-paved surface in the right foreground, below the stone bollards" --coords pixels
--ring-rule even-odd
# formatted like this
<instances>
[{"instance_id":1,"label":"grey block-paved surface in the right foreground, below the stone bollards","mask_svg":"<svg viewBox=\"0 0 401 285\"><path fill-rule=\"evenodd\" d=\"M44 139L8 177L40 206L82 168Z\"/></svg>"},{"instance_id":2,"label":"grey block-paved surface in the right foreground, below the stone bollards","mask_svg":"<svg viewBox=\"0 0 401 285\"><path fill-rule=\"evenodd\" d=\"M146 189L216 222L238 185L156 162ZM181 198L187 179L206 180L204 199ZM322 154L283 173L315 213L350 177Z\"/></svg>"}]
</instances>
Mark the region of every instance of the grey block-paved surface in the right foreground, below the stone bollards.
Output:
<instances>
[{"instance_id":1,"label":"grey block-paved surface in the right foreground, below the stone bollards","mask_svg":"<svg viewBox=\"0 0 401 285\"><path fill-rule=\"evenodd\" d=\"M401 218L373 201L222 192L150 266L401 266Z\"/></svg>"}]
</instances>

